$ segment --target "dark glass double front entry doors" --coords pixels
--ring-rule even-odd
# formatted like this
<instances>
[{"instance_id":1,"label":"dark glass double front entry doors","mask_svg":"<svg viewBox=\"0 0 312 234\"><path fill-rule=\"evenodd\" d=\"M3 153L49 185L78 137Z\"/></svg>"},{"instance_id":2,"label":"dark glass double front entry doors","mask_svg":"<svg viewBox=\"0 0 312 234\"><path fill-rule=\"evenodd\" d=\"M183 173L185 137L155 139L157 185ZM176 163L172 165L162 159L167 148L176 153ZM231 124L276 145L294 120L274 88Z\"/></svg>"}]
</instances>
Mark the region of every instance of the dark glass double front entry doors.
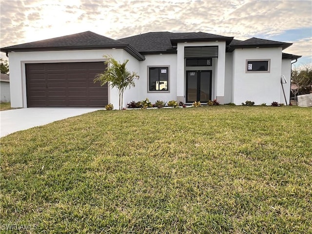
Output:
<instances>
[{"instance_id":1,"label":"dark glass double front entry doors","mask_svg":"<svg viewBox=\"0 0 312 234\"><path fill-rule=\"evenodd\" d=\"M186 102L211 100L212 71L186 72Z\"/></svg>"}]
</instances>

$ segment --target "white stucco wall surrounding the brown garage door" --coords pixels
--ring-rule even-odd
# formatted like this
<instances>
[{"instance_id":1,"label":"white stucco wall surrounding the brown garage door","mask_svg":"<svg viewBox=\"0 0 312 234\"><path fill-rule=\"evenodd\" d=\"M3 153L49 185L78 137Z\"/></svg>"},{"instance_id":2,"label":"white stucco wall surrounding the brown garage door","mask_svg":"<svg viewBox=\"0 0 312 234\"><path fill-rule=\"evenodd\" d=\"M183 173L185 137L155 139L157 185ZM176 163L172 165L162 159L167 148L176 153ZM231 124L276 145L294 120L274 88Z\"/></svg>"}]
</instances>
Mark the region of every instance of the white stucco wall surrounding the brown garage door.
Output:
<instances>
[{"instance_id":1,"label":"white stucco wall surrounding the brown garage door","mask_svg":"<svg viewBox=\"0 0 312 234\"><path fill-rule=\"evenodd\" d=\"M104 61L103 55L112 55L114 59L119 61L130 58L131 61L128 62L127 66L128 70L138 71L137 59L134 59L122 49L9 53L11 107L27 107L25 63ZM135 92L128 93L127 91L125 96L135 95ZM117 90L109 90L108 99L108 102L118 108Z\"/></svg>"}]
</instances>

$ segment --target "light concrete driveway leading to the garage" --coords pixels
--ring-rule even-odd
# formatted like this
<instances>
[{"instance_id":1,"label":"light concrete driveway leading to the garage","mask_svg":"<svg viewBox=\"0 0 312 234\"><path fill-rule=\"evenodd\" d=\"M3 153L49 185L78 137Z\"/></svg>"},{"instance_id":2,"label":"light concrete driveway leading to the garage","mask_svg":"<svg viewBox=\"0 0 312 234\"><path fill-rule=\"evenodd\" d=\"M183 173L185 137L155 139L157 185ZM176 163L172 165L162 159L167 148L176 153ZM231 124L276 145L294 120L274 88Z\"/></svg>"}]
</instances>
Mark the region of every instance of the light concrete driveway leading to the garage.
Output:
<instances>
[{"instance_id":1,"label":"light concrete driveway leading to the garage","mask_svg":"<svg viewBox=\"0 0 312 234\"><path fill-rule=\"evenodd\" d=\"M22 108L0 112L0 137L104 108Z\"/></svg>"}]
</instances>

